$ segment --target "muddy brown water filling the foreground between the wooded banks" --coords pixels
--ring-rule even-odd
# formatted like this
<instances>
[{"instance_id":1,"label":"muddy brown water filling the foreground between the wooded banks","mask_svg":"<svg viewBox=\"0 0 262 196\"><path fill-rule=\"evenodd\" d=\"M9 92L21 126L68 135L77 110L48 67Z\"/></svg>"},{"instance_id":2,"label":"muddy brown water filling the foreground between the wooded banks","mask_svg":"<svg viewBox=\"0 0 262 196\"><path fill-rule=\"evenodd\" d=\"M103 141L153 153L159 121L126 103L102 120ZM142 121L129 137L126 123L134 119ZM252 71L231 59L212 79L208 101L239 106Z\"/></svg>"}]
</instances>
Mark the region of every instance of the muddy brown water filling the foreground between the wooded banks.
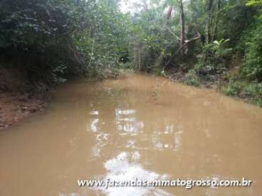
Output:
<instances>
[{"instance_id":1,"label":"muddy brown water filling the foreground between the wooded banks","mask_svg":"<svg viewBox=\"0 0 262 196\"><path fill-rule=\"evenodd\" d=\"M0 195L262 195L262 109L159 77L78 80L0 133ZM251 187L78 187L78 179L241 179Z\"/></svg>"}]
</instances>

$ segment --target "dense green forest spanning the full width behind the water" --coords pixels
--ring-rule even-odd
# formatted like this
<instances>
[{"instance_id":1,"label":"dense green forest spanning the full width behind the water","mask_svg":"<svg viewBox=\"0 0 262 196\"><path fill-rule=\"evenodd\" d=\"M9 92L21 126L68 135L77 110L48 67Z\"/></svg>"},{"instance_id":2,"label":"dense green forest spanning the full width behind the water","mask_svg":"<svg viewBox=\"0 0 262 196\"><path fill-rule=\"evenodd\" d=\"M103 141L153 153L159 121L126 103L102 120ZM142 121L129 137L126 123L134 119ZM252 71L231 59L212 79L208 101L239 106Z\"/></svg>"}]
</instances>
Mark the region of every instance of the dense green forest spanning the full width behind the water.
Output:
<instances>
[{"instance_id":1,"label":"dense green forest spanning the full width behind the water","mask_svg":"<svg viewBox=\"0 0 262 196\"><path fill-rule=\"evenodd\" d=\"M262 105L261 0L137 1L124 11L120 4L2 0L1 62L49 84L141 70Z\"/></svg>"}]
</instances>

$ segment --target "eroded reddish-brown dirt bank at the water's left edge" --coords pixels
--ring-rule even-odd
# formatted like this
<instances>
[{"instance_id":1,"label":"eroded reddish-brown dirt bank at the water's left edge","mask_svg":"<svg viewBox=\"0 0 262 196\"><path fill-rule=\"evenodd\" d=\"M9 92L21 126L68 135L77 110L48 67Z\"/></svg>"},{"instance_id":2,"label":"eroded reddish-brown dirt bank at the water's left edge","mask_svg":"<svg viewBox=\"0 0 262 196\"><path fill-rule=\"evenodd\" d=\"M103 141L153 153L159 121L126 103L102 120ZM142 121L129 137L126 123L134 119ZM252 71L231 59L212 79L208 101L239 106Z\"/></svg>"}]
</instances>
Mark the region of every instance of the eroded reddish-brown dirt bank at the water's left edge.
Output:
<instances>
[{"instance_id":1,"label":"eroded reddish-brown dirt bank at the water's left edge","mask_svg":"<svg viewBox=\"0 0 262 196\"><path fill-rule=\"evenodd\" d=\"M32 85L18 70L0 68L0 130L45 111L50 98L47 85Z\"/></svg>"}]
</instances>

